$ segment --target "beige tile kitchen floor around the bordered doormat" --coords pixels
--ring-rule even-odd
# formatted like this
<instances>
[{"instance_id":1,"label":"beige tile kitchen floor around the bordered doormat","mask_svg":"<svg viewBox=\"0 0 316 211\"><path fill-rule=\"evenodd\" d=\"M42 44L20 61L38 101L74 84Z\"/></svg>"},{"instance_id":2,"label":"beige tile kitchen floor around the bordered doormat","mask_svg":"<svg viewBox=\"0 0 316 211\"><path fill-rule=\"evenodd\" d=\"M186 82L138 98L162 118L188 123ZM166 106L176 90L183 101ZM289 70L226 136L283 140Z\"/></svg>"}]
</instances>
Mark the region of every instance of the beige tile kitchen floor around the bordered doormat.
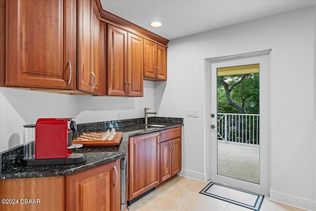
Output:
<instances>
[{"instance_id":1,"label":"beige tile kitchen floor around the bordered doormat","mask_svg":"<svg viewBox=\"0 0 316 211\"><path fill-rule=\"evenodd\" d=\"M251 211L200 194L208 182L177 176L129 206L129 211ZM265 196L260 211L302 211L274 203Z\"/></svg>"}]
</instances>

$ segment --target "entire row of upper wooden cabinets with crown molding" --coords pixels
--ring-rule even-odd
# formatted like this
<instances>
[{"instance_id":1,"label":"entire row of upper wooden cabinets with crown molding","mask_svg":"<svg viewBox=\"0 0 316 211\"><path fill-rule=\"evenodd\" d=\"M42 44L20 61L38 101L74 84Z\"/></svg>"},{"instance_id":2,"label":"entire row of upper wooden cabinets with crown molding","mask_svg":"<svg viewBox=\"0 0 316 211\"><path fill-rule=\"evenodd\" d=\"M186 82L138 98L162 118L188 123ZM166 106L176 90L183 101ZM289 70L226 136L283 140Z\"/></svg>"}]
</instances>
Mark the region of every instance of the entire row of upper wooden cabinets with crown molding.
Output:
<instances>
[{"instance_id":1,"label":"entire row of upper wooden cabinets with crown molding","mask_svg":"<svg viewBox=\"0 0 316 211\"><path fill-rule=\"evenodd\" d=\"M168 42L100 0L0 0L0 86L143 96L167 80Z\"/></svg>"}]
</instances>

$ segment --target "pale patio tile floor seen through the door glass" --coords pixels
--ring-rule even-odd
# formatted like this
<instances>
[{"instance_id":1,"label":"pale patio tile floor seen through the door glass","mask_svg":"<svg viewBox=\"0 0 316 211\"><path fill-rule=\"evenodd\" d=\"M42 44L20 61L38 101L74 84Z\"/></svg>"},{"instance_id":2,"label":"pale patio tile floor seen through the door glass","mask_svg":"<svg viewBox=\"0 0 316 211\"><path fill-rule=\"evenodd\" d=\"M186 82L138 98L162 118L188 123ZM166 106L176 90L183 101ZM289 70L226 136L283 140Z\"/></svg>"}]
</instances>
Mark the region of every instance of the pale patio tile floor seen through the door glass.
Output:
<instances>
[{"instance_id":1,"label":"pale patio tile floor seen through the door glass","mask_svg":"<svg viewBox=\"0 0 316 211\"><path fill-rule=\"evenodd\" d=\"M259 183L259 147L218 142L218 174Z\"/></svg>"}]
</instances>

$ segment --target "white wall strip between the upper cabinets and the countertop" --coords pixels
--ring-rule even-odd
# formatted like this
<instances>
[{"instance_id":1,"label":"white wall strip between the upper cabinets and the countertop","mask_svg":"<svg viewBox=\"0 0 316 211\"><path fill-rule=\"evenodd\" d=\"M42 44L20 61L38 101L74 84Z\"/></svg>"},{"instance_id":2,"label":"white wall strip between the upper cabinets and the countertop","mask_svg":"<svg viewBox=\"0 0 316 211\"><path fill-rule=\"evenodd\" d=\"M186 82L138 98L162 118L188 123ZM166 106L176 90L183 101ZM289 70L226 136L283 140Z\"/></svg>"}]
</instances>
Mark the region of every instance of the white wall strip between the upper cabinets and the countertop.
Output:
<instances>
[{"instance_id":1,"label":"white wall strip between the upper cabinets and the countertop","mask_svg":"<svg viewBox=\"0 0 316 211\"><path fill-rule=\"evenodd\" d=\"M144 97L65 95L0 87L0 152L23 144L23 125L39 118L75 117L76 123L144 117L154 107L154 82L144 81Z\"/></svg>"}]
</instances>

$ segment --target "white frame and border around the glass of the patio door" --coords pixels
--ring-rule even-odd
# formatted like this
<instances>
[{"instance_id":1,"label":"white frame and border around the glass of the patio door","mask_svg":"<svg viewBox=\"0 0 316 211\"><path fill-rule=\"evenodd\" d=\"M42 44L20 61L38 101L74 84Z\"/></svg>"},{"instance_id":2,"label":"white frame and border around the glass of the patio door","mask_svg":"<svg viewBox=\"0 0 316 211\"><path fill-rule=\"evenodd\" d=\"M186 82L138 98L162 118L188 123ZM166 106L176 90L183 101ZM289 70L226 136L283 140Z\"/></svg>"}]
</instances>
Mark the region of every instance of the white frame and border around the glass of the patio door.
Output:
<instances>
[{"instance_id":1,"label":"white frame and border around the glass of the patio door","mask_svg":"<svg viewBox=\"0 0 316 211\"><path fill-rule=\"evenodd\" d=\"M257 192L264 195L269 195L271 189L271 90L270 90L270 54L271 49L248 52L242 54L235 54L229 56L221 56L221 57L212 57L205 59L205 79L206 79L206 90L205 90L205 172L206 178L210 179L214 182L225 183L231 186L239 187L242 189L250 190L253 192ZM217 141L212 140L212 135L215 136L217 134L217 129L211 129L210 125L217 125L217 111L215 118L211 118L212 112L212 84L211 78L216 77L212 76L212 71L214 72L214 68L217 71L217 68L224 67L228 65L228 63L234 63L237 65L245 65L247 62L257 61L256 63L261 63L265 65L263 73L260 73L260 93L264 91L264 101L262 101L260 96L260 137L262 133L265 132L264 136L267 139L265 144L260 146L260 184L255 184L247 181L242 181L239 179L223 176L217 174ZM225 64L226 63L226 64ZM214 75L214 74L213 74ZM264 82L264 83L263 83ZM216 83L217 84L217 83ZM216 86L215 84L215 86ZM217 86L213 88L217 89ZM217 99L217 96L216 96ZM214 106L213 106L214 107ZM262 118L263 117L263 118ZM214 134L215 133L215 134ZM262 139L261 139L262 140ZM262 167L263 161L263 167Z\"/></svg>"}]
</instances>

